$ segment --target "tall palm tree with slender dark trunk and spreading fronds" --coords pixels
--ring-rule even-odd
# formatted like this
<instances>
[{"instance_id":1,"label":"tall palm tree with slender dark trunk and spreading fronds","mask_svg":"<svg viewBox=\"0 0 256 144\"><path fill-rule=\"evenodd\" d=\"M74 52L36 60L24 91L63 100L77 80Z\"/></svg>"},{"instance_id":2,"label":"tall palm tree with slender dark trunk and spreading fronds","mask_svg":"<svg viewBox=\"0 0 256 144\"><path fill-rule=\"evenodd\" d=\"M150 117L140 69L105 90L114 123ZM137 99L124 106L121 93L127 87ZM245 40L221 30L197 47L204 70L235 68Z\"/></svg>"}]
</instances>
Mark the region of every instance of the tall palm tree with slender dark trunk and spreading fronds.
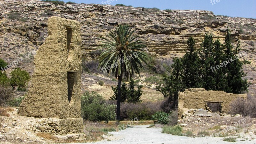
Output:
<instances>
[{"instance_id":1,"label":"tall palm tree with slender dark trunk and spreading fronds","mask_svg":"<svg viewBox=\"0 0 256 144\"><path fill-rule=\"evenodd\" d=\"M134 30L128 25L118 25L115 30L111 30L106 38L102 38L100 48L106 49L98 58L99 67L103 72L112 72L118 78L117 95L117 120L120 120L121 104L121 84L124 80L129 80L134 72L140 75L140 68L144 69L142 63L145 62L146 55L143 53L146 45L138 40L139 36L132 36Z\"/></svg>"}]
</instances>

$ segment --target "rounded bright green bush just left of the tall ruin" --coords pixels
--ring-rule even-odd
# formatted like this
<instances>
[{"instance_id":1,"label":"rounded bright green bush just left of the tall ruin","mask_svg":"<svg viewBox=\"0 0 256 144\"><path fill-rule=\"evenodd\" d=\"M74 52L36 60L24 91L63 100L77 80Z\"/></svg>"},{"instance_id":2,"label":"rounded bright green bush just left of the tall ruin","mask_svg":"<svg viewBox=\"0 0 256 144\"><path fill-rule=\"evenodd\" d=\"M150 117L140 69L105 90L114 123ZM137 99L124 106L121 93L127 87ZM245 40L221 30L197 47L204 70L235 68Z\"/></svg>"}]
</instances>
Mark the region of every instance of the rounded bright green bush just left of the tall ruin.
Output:
<instances>
[{"instance_id":1,"label":"rounded bright green bush just left of the tall ruin","mask_svg":"<svg viewBox=\"0 0 256 144\"><path fill-rule=\"evenodd\" d=\"M11 72L10 84L13 88L18 86L18 90L26 91L30 78L27 71L15 68Z\"/></svg>"}]
</instances>

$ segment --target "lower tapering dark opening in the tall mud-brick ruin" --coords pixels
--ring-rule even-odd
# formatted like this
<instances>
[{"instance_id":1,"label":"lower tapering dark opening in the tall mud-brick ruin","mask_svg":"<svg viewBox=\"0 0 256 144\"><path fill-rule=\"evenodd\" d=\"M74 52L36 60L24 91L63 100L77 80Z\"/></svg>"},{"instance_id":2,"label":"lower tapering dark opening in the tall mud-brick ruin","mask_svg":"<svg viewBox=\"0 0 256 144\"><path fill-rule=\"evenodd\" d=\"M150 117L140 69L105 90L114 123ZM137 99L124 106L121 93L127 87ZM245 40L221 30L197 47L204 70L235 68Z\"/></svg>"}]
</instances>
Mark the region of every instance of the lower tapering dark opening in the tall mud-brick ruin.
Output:
<instances>
[{"instance_id":1,"label":"lower tapering dark opening in the tall mud-brick ruin","mask_svg":"<svg viewBox=\"0 0 256 144\"><path fill-rule=\"evenodd\" d=\"M70 103L72 99L73 89L74 89L74 82L75 82L76 72L67 72L68 78L68 102Z\"/></svg>"}]
</instances>

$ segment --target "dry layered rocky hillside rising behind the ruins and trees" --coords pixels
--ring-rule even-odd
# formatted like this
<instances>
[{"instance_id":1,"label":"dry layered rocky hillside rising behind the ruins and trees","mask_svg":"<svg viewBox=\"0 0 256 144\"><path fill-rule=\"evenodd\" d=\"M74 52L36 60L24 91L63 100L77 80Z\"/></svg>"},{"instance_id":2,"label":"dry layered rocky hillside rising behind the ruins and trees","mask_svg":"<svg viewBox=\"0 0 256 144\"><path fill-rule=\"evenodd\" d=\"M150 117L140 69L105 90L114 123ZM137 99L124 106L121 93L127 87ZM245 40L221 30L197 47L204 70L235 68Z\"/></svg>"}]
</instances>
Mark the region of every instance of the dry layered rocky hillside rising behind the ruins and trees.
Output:
<instances>
[{"instance_id":1,"label":"dry layered rocky hillside rising behind the ruins and trees","mask_svg":"<svg viewBox=\"0 0 256 144\"><path fill-rule=\"evenodd\" d=\"M187 48L189 36L193 36L196 47L200 47L206 33L222 42L225 30L229 27L234 42L241 40L242 49L247 52L244 60L251 61L244 66L247 78L252 85L251 94L256 93L255 40L256 19L216 16L210 11L201 10L163 10L154 11L134 7L116 7L99 4L64 4L55 6L51 2L39 0L10 0L4 3L0 12L0 57L8 63L37 50L45 41L47 34L47 11L53 16L74 19L81 23L82 54L95 59L100 37L114 28L116 24L129 24L135 34L147 44L147 50L158 58L182 56ZM19 12L19 20L10 19L12 13ZM45 13L46 12L46 13ZM235 43L236 44L236 43ZM33 57L26 58L20 67L33 73ZM9 72L7 72L9 73Z\"/></svg>"}]
</instances>

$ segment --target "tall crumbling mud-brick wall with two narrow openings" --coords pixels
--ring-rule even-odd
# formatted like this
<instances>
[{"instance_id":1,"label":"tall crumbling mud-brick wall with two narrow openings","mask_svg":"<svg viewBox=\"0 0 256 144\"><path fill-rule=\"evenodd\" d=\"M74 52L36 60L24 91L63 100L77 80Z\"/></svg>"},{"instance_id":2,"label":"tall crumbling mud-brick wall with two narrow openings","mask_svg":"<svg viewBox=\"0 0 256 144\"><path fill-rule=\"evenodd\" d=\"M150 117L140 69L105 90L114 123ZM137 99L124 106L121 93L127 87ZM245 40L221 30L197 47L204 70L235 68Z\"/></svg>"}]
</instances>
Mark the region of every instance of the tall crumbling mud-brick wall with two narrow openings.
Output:
<instances>
[{"instance_id":1,"label":"tall crumbling mud-brick wall with two narrow openings","mask_svg":"<svg viewBox=\"0 0 256 144\"><path fill-rule=\"evenodd\" d=\"M42 118L81 118L80 23L50 17L48 35L36 52L32 85L19 106L18 114Z\"/></svg>"}]
</instances>

